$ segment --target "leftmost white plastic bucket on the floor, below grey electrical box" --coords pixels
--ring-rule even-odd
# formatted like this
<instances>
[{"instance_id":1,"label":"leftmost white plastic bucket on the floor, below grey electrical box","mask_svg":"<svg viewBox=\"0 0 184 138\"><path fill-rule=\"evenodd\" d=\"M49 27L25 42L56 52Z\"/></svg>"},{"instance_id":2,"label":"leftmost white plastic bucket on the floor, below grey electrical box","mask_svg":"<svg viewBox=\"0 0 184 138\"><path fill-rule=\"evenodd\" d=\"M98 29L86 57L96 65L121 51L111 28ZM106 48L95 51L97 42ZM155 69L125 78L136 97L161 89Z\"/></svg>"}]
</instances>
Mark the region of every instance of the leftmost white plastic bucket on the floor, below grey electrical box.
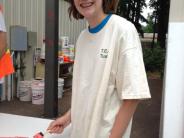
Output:
<instances>
[{"instance_id":1,"label":"leftmost white plastic bucket on the floor, below grey electrical box","mask_svg":"<svg viewBox=\"0 0 184 138\"><path fill-rule=\"evenodd\" d=\"M31 101L31 81L19 81L18 95L20 101Z\"/></svg>"}]
</instances>

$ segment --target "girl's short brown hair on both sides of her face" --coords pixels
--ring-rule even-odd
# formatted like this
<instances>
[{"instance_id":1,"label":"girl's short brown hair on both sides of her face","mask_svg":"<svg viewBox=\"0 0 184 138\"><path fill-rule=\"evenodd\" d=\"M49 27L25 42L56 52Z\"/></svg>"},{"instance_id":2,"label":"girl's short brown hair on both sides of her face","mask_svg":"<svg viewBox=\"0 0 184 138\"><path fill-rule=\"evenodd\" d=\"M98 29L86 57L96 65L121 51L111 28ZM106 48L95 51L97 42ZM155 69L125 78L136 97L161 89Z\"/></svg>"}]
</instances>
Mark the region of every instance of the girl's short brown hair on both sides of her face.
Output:
<instances>
[{"instance_id":1,"label":"girl's short brown hair on both sides of her face","mask_svg":"<svg viewBox=\"0 0 184 138\"><path fill-rule=\"evenodd\" d=\"M75 19L83 19L84 16L81 15L74 4L74 0L68 0L70 7L68 8L69 17L73 16ZM114 13L116 11L119 0L103 0L103 11L106 14Z\"/></svg>"}]
</instances>

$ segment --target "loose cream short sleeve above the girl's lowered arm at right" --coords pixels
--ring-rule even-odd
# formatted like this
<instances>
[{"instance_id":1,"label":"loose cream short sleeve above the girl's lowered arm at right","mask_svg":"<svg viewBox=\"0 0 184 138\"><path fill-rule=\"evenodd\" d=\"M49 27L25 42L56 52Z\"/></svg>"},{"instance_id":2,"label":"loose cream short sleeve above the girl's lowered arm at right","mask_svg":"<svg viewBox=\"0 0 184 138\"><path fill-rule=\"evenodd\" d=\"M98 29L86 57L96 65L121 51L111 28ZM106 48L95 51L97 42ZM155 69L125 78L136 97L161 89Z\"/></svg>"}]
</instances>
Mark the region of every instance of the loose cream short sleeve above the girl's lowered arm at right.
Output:
<instances>
[{"instance_id":1,"label":"loose cream short sleeve above the girl's lowered arm at right","mask_svg":"<svg viewBox=\"0 0 184 138\"><path fill-rule=\"evenodd\" d=\"M133 26L123 37L117 65L116 88L120 99L151 98L138 33Z\"/></svg>"}]
</instances>

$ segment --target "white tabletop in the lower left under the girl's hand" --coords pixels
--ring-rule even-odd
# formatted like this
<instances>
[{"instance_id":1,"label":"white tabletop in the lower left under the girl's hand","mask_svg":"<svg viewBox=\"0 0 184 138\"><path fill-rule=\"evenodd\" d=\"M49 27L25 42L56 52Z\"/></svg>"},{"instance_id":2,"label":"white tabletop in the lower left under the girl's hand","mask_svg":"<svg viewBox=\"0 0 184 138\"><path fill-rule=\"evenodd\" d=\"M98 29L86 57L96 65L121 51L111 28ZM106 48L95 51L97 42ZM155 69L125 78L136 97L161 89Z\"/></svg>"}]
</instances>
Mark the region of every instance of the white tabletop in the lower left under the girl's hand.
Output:
<instances>
[{"instance_id":1,"label":"white tabletop in the lower left under the girl's hand","mask_svg":"<svg viewBox=\"0 0 184 138\"><path fill-rule=\"evenodd\" d=\"M29 137L45 132L52 120L0 113L0 137ZM48 134L44 138L69 138L70 126L63 134Z\"/></svg>"}]
</instances>

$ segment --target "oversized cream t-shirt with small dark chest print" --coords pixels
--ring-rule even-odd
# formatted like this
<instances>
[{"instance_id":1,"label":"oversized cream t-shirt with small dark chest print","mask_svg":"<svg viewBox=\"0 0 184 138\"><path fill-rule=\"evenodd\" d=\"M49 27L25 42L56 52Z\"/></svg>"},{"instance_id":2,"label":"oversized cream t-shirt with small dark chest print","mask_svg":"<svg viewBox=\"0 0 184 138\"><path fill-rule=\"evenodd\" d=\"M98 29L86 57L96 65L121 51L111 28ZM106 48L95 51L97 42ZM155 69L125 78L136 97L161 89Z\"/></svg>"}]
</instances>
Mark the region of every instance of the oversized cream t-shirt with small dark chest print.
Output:
<instances>
[{"instance_id":1,"label":"oversized cream t-shirt with small dark chest print","mask_svg":"<svg viewBox=\"0 0 184 138\"><path fill-rule=\"evenodd\" d=\"M132 23L112 15L99 32L80 34L72 87L71 138L108 138L123 99L151 97ZM123 138L130 131L131 122Z\"/></svg>"}]
</instances>

